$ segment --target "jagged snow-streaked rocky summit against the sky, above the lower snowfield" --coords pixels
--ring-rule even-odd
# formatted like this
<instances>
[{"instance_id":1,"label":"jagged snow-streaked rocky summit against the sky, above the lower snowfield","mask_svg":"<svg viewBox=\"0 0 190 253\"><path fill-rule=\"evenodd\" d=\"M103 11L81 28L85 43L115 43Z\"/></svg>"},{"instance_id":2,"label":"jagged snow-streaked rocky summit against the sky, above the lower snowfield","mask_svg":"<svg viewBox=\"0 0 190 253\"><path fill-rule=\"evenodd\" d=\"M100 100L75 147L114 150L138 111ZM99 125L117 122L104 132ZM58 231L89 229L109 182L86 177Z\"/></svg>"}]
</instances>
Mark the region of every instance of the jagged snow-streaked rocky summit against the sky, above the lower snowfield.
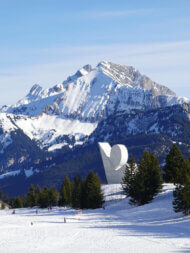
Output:
<instances>
[{"instance_id":1,"label":"jagged snow-streaked rocky summit against the sky, above the lower snowfield","mask_svg":"<svg viewBox=\"0 0 190 253\"><path fill-rule=\"evenodd\" d=\"M183 102L165 86L151 81L133 67L101 62L86 65L62 84L49 89L34 85L26 97L1 111L38 116L47 114L99 121L115 112L146 110Z\"/></svg>"}]
</instances>

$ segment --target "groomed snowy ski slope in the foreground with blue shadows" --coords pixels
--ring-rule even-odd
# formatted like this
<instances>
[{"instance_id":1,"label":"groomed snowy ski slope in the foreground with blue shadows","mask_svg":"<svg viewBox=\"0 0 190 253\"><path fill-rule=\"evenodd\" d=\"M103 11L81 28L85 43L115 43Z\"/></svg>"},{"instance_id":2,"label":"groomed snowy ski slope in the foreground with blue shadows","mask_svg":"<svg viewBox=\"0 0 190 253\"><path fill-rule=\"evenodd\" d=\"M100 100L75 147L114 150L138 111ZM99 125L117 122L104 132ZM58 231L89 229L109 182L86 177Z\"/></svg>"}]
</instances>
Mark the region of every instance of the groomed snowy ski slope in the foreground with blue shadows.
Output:
<instances>
[{"instance_id":1,"label":"groomed snowy ski slope in the foreground with blue shadows","mask_svg":"<svg viewBox=\"0 0 190 253\"><path fill-rule=\"evenodd\" d=\"M173 212L173 185L140 207L129 205L120 185L102 189L105 209L80 215L58 207L0 211L0 252L190 252L190 217Z\"/></svg>"}]
</instances>

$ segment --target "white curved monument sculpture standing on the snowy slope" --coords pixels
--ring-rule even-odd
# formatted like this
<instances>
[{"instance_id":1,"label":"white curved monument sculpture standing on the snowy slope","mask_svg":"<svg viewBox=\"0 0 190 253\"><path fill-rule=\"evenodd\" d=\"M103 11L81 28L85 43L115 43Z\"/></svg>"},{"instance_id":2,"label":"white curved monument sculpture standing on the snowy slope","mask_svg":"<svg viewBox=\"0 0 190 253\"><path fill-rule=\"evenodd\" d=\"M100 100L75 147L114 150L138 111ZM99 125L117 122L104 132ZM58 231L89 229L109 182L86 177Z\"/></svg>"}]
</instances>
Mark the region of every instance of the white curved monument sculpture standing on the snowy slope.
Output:
<instances>
[{"instance_id":1,"label":"white curved monument sculpture standing on the snowy slope","mask_svg":"<svg viewBox=\"0 0 190 253\"><path fill-rule=\"evenodd\" d=\"M127 148L121 144L111 147L107 142L99 142L98 144L108 184L122 183L128 161Z\"/></svg>"}]
</instances>

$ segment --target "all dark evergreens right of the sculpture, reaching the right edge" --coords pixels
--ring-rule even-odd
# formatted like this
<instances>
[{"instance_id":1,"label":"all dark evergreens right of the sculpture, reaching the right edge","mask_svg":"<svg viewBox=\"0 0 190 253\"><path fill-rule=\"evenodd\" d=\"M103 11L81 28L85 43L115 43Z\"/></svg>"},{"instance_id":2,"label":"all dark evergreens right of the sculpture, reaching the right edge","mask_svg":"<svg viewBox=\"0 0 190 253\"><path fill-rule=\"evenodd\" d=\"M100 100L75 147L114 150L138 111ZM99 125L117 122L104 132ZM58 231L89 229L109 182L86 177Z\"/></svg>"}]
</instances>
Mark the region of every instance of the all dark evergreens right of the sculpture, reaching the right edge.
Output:
<instances>
[{"instance_id":1,"label":"all dark evergreens right of the sculpture, reaching the right edge","mask_svg":"<svg viewBox=\"0 0 190 253\"><path fill-rule=\"evenodd\" d=\"M159 168L154 154L145 151L137 164L130 156L123 178L123 190L131 204L149 203L162 189L163 180L175 184L173 208L175 212L190 214L190 159L186 160L174 144L166 156L165 166Z\"/></svg>"}]
</instances>

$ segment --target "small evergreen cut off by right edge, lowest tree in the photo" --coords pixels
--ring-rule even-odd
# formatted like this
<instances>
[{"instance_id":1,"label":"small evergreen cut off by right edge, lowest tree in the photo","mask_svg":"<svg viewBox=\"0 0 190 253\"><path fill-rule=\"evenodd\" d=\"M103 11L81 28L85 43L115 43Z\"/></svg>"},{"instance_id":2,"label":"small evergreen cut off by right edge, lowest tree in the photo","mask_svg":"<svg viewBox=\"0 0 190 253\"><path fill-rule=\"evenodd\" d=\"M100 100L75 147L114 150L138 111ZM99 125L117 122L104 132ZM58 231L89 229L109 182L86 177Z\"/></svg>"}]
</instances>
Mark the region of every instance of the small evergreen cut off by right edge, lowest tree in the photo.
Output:
<instances>
[{"instance_id":1,"label":"small evergreen cut off by right edge, lowest tree in the photo","mask_svg":"<svg viewBox=\"0 0 190 253\"><path fill-rule=\"evenodd\" d=\"M184 185L178 184L173 191L173 207L175 212L183 212L185 215L190 214L190 181Z\"/></svg>"}]
</instances>

